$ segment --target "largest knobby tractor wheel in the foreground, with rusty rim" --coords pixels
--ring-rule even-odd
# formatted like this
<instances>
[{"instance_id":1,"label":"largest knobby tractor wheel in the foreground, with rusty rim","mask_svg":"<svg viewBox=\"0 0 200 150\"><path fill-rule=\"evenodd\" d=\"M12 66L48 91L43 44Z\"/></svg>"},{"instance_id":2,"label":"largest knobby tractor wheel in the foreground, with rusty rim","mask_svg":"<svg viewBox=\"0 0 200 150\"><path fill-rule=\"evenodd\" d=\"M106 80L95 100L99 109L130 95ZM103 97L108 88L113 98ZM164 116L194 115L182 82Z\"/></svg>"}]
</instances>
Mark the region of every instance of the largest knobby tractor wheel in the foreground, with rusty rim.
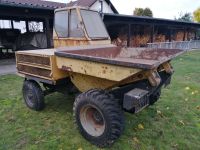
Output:
<instances>
[{"instance_id":1,"label":"largest knobby tractor wheel in the foreground, with rusty rim","mask_svg":"<svg viewBox=\"0 0 200 150\"><path fill-rule=\"evenodd\" d=\"M117 100L103 90L80 94L74 102L80 133L98 147L110 146L124 129L124 115Z\"/></svg>"}]
</instances>

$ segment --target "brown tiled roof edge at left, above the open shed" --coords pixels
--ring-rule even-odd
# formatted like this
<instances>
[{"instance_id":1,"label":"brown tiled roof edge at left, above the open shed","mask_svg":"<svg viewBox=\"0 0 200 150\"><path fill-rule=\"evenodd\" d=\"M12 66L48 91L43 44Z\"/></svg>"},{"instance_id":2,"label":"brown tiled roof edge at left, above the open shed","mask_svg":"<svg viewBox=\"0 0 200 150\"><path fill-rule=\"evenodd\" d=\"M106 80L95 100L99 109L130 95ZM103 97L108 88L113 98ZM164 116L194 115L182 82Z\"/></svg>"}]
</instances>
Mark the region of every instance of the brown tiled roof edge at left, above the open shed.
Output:
<instances>
[{"instance_id":1,"label":"brown tiled roof edge at left, above the open shed","mask_svg":"<svg viewBox=\"0 0 200 150\"><path fill-rule=\"evenodd\" d=\"M0 0L0 5L52 10L56 8L66 7L65 3L57 3L43 0Z\"/></svg>"}]
</instances>

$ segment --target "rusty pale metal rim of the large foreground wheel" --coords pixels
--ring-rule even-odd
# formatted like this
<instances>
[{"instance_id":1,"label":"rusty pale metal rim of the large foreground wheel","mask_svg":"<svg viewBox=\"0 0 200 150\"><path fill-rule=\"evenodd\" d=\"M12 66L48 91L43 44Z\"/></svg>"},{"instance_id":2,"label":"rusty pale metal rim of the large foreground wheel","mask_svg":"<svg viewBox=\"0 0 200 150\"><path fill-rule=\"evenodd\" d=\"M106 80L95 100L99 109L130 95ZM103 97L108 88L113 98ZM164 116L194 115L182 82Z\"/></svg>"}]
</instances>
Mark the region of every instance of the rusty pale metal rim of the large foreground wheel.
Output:
<instances>
[{"instance_id":1,"label":"rusty pale metal rim of the large foreground wheel","mask_svg":"<svg viewBox=\"0 0 200 150\"><path fill-rule=\"evenodd\" d=\"M92 105L81 108L80 122L84 130L91 136L98 137L104 133L104 117L101 111Z\"/></svg>"}]
</instances>

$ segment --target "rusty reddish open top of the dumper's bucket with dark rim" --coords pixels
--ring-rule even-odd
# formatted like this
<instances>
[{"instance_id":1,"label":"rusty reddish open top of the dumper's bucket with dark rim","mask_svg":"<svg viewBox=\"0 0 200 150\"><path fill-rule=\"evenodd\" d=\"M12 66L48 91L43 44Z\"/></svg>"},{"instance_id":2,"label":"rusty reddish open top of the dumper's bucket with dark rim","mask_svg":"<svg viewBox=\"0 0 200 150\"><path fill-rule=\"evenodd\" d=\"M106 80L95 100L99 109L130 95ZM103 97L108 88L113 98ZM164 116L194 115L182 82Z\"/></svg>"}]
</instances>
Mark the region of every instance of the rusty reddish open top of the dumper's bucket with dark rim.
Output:
<instances>
[{"instance_id":1,"label":"rusty reddish open top of the dumper's bucket with dark rim","mask_svg":"<svg viewBox=\"0 0 200 150\"><path fill-rule=\"evenodd\" d=\"M66 47L58 57L99 62L138 69L153 69L184 53L180 49L121 48L113 45Z\"/></svg>"}]
</instances>

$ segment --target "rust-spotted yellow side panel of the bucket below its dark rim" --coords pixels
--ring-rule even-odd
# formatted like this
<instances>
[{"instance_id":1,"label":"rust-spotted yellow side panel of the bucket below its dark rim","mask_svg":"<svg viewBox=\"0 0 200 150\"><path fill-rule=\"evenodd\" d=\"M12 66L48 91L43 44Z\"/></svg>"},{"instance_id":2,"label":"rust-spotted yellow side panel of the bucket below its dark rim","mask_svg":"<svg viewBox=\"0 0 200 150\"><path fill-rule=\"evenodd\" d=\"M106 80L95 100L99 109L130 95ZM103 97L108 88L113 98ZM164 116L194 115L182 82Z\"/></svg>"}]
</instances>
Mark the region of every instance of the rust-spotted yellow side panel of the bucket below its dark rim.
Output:
<instances>
[{"instance_id":1,"label":"rust-spotted yellow side panel of the bucket below its dark rim","mask_svg":"<svg viewBox=\"0 0 200 150\"><path fill-rule=\"evenodd\" d=\"M56 60L59 69L118 82L141 71L136 68L72 58L57 57Z\"/></svg>"}]
</instances>

